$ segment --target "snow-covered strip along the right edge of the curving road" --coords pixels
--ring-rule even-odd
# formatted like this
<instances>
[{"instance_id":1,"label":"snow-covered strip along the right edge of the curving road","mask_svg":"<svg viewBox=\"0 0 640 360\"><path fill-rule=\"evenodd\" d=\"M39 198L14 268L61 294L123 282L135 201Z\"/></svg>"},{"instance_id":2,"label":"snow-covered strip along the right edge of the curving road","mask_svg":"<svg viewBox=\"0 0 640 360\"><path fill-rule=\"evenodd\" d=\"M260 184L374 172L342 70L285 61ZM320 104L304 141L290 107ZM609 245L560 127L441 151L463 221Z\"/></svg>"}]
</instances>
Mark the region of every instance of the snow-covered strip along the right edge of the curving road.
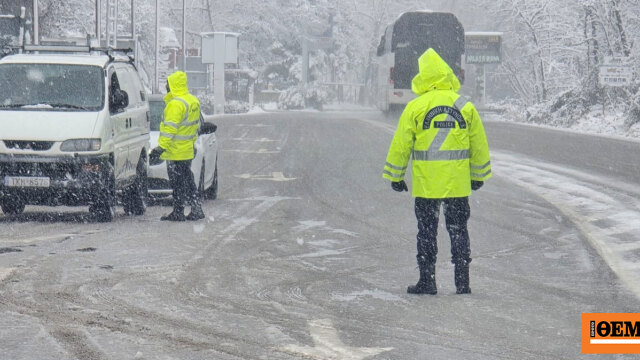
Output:
<instances>
[{"instance_id":1,"label":"snow-covered strip along the right edge of the curving road","mask_svg":"<svg viewBox=\"0 0 640 360\"><path fill-rule=\"evenodd\" d=\"M640 186L521 154L492 153L494 171L555 206L640 299Z\"/></svg>"}]
</instances>

